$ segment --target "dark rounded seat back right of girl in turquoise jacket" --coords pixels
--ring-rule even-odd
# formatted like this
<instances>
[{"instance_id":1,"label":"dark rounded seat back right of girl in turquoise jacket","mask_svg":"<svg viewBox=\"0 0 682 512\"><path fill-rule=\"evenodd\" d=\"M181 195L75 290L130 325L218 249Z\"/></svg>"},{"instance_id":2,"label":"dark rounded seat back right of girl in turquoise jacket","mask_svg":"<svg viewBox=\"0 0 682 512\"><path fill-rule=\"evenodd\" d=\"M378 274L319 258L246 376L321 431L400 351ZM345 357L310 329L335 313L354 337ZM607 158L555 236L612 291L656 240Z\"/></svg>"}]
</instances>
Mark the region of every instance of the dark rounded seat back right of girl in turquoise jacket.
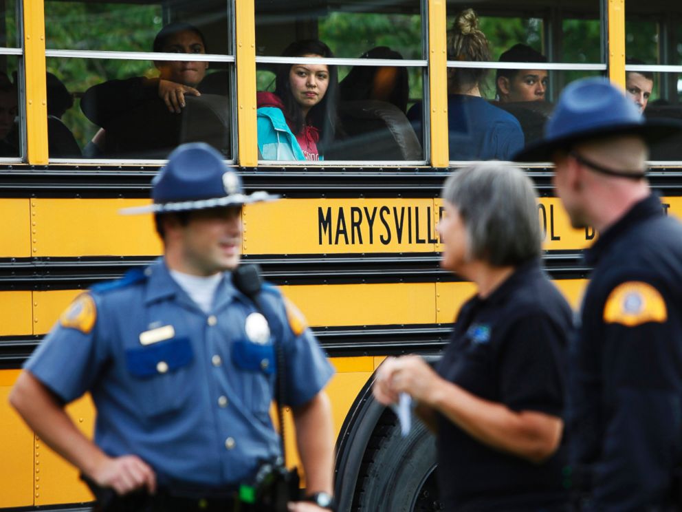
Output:
<instances>
[{"instance_id":1,"label":"dark rounded seat back right of girl in turquoise jacket","mask_svg":"<svg viewBox=\"0 0 682 512\"><path fill-rule=\"evenodd\" d=\"M377 100L344 101L339 117L347 137L325 153L325 160L423 160L419 139L405 114Z\"/></svg>"}]
</instances>

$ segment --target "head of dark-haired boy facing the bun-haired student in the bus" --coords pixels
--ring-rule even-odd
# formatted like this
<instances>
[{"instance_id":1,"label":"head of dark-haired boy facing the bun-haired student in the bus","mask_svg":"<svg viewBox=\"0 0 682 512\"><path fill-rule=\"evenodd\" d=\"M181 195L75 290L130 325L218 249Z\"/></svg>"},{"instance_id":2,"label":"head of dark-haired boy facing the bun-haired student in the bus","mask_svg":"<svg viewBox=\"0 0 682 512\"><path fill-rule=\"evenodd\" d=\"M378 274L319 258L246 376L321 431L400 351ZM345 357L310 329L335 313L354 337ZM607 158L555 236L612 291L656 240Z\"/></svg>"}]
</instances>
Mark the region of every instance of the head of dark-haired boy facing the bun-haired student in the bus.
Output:
<instances>
[{"instance_id":1,"label":"head of dark-haired boy facing the bun-haired student in the bus","mask_svg":"<svg viewBox=\"0 0 682 512\"><path fill-rule=\"evenodd\" d=\"M546 63L547 57L518 43L500 55L500 62ZM497 70L497 97L501 103L544 101L548 80L547 70Z\"/></svg>"}]
</instances>

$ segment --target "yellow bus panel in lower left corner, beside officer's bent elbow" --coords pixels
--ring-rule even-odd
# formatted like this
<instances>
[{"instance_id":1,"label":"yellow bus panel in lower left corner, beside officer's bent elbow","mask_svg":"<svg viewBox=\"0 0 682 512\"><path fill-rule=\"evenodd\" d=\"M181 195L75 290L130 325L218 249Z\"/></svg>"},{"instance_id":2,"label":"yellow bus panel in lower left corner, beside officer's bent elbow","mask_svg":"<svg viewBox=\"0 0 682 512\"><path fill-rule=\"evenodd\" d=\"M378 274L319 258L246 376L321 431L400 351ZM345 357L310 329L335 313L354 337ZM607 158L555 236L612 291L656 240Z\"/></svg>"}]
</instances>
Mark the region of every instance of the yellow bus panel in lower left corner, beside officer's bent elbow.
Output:
<instances>
[{"instance_id":1,"label":"yellow bus panel in lower left corner, beside officer's bent elbow","mask_svg":"<svg viewBox=\"0 0 682 512\"><path fill-rule=\"evenodd\" d=\"M8 402L19 372L0 371L0 507L33 504L33 434Z\"/></svg>"}]
</instances>

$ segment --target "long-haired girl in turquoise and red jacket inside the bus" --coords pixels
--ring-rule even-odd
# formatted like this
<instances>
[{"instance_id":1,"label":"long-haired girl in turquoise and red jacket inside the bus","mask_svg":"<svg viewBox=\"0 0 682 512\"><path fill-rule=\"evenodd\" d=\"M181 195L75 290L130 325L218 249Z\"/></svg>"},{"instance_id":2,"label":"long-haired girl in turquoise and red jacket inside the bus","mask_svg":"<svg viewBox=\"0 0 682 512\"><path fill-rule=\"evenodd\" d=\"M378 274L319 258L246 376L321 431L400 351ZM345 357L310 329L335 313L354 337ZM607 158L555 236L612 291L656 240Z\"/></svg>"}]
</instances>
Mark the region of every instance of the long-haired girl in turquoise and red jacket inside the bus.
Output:
<instances>
[{"instance_id":1,"label":"long-haired girl in turquoise and red jacket inside the bus","mask_svg":"<svg viewBox=\"0 0 682 512\"><path fill-rule=\"evenodd\" d=\"M289 45L285 57L333 57L317 39ZM322 160L339 131L336 66L279 65L275 91L258 92L258 147L264 160Z\"/></svg>"}]
</instances>

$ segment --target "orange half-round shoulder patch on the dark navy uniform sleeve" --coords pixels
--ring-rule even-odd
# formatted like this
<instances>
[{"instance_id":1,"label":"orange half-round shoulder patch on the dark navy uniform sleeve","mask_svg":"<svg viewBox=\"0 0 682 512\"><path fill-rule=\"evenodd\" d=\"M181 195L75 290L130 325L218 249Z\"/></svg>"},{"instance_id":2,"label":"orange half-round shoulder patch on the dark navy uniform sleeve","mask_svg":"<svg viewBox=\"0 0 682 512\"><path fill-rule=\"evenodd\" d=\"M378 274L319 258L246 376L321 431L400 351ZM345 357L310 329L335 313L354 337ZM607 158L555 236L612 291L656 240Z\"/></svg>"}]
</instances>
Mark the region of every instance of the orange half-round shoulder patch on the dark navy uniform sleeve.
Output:
<instances>
[{"instance_id":1,"label":"orange half-round shoulder patch on the dark navy uniform sleeve","mask_svg":"<svg viewBox=\"0 0 682 512\"><path fill-rule=\"evenodd\" d=\"M647 322L662 323L668 319L668 308L661 292L642 281L628 281L611 290L604 305L604 322L627 327Z\"/></svg>"}]
</instances>

